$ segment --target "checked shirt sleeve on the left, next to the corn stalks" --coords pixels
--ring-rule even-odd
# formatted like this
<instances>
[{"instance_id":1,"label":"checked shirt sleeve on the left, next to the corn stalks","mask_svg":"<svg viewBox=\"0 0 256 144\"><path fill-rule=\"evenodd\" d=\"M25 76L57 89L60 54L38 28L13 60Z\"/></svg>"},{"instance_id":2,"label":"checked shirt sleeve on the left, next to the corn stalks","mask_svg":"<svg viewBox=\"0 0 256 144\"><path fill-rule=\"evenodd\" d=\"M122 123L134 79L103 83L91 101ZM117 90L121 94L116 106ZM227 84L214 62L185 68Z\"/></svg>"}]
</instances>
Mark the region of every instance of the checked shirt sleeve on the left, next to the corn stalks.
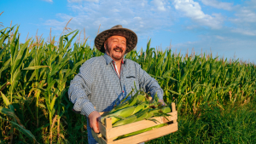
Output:
<instances>
[{"instance_id":1,"label":"checked shirt sleeve on the left, next to the corn stalks","mask_svg":"<svg viewBox=\"0 0 256 144\"><path fill-rule=\"evenodd\" d=\"M93 82L92 66L90 61L85 61L80 67L79 73L73 78L68 89L69 100L73 102L73 110L80 112L86 117L96 111L88 96L90 95L91 84Z\"/></svg>"}]
</instances>

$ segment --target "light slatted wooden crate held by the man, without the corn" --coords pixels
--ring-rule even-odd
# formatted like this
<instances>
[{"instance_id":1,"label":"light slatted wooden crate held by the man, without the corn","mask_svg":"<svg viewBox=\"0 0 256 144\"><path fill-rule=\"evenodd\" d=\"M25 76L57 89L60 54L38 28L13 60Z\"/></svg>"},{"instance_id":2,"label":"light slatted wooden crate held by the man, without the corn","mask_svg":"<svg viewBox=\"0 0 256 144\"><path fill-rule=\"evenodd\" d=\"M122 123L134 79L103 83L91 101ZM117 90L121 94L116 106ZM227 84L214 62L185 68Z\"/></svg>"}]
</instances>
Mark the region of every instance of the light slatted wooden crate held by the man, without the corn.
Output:
<instances>
[{"instance_id":1,"label":"light slatted wooden crate held by the man, without the corn","mask_svg":"<svg viewBox=\"0 0 256 144\"><path fill-rule=\"evenodd\" d=\"M105 115L106 113L100 112L100 114ZM175 103L172 103L172 112L168 114L171 115L167 117L170 121L168 121L166 118L158 117L155 119L158 120L160 123L155 123L149 120L142 120L139 122L125 124L115 128L112 128L111 118L106 118L106 125L103 125L101 122L99 122L100 134L96 134L93 130L91 130L91 132L93 137L96 139L96 141L99 142L99 144L134 144L149 141L177 131L177 111ZM113 141L113 138L120 135L129 134L137 130L143 130L164 123L166 123L167 125L158 129L149 130L138 135L132 135L120 140Z\"/></svg>"}]
</instances>

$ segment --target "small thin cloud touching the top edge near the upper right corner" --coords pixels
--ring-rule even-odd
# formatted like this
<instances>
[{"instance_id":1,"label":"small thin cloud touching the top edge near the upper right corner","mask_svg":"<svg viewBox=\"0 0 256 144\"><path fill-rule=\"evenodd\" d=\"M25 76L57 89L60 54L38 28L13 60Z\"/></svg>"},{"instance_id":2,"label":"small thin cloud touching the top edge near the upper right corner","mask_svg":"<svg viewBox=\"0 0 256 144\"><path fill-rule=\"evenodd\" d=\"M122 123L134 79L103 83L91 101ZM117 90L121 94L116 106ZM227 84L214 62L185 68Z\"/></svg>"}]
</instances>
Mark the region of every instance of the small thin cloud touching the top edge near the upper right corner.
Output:
<instances>
[{"instance_id":1,"label":"small thin cloud touching the top edge near the upper right corner","mask_svg":"<svg viewBox=\"0 0 256 144\"><path fill-rule=\"evenodd\" d=\"M223 3L218 2L217 0L201 0L207 6L211 6L217 9L225 9L225 10L232 10L233 3Z\"/></svg>"}]
</instances>

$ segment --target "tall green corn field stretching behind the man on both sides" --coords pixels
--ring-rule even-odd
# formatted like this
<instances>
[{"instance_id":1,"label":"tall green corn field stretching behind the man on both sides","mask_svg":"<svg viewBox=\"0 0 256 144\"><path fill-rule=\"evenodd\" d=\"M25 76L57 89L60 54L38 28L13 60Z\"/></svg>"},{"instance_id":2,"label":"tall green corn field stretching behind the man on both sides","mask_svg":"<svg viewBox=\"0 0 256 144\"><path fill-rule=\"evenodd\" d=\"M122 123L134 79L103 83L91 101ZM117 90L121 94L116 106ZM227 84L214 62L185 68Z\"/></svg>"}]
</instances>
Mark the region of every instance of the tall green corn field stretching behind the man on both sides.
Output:
<instances>
[{"instance_id":1,"label":"tall green corn field stretching behind the man on both sides","mask_svg":"<svg viewBox=\"0 0 256 144\"><path fill-rule=\"evenodd\" d=\"M78 31L58 42L30 38L20 43L19 26L0 35L0 142L86 143L86 118L72 112L70 81L85 60L102 55L83 42L72 43ZM256 66L212 55L177 55L150 48L125 56L158 80L166 103L180 113L198 113L216 101L244 105L256 96Z\"/></svg>"}]
</instances>

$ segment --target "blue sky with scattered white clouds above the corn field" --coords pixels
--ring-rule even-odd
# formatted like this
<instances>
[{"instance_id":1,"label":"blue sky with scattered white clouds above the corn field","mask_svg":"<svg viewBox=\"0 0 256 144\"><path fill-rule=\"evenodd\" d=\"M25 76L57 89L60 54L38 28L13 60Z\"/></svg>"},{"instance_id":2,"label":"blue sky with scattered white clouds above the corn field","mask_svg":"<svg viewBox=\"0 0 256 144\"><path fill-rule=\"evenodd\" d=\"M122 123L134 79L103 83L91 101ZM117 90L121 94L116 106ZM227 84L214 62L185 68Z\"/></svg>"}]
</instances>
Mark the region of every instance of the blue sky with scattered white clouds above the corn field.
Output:
<instances>
[{"instance_id":1,"label":"blue sky with scattered white clouds above the corn field","mask_svg":"<svg viewBox=\"0 0 256 144\"><path fill-rule=\"evenodd\" d=\"M137 50L169 49L185 55L192 49L256 62L256 0L0 0L3 26L19 25L27 35L59 37L67 21L94 44L98 32L122 25L137 33ZM3 27L2 27L3 28ZM0 27L1 29L1 27Z\"/></svg>"}]
</instances>

